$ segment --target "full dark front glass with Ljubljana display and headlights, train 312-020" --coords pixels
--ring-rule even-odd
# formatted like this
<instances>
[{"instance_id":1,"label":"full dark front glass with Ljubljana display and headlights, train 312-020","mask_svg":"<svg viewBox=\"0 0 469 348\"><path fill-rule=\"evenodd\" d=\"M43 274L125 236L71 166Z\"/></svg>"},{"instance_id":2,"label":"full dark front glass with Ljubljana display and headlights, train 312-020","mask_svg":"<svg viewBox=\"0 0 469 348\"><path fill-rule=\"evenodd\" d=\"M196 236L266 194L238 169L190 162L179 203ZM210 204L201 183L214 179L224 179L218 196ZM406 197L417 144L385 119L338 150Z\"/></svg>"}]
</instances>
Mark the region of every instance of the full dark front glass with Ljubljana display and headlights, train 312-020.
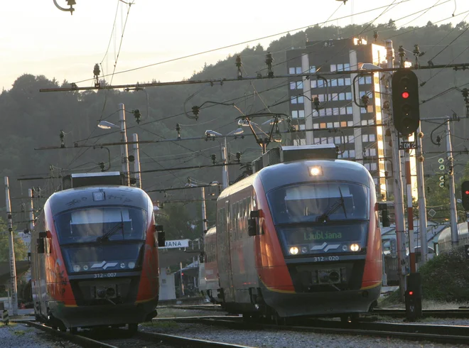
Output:
<instances>
[{"instance_id":1,"label":"full dark front glass with Ljubljana display and headlights, train 312-020","mask_svg":"<svg viewBox=\"0 0 469 348\"><path fill-rule=\"evenodd\" d=\"M332 182L291 185L267 197L287 256L364 250L370 219L367 187Z\"/></svg>"}]
</instances>

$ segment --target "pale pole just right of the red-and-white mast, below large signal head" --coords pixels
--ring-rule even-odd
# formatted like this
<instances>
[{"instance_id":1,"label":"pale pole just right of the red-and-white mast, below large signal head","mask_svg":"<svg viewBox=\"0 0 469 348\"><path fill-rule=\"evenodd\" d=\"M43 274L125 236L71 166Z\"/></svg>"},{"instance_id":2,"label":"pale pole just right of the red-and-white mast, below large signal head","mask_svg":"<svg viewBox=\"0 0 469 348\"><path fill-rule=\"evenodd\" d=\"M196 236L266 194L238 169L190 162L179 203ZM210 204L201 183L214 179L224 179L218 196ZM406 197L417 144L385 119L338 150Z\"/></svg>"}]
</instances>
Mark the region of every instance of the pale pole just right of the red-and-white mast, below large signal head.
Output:
<instances>
[{"instance_id":1,"label":"pale pole just right of the red-and-white mast, below large signal head","mask_svg":"<svg viewBox=\"0 0 469 348\"><path fill-rule=\"evenodd\" d=\"M425 201L425 179L424 179L424 148L422 147L421 127L417 129L417 149L416 149L416 171L417 171L417 192L419 193L419 230L420 230L420 257L423 265L428 260L428 239L426 236L426 201Z\"/></svg>"}]
</instances>

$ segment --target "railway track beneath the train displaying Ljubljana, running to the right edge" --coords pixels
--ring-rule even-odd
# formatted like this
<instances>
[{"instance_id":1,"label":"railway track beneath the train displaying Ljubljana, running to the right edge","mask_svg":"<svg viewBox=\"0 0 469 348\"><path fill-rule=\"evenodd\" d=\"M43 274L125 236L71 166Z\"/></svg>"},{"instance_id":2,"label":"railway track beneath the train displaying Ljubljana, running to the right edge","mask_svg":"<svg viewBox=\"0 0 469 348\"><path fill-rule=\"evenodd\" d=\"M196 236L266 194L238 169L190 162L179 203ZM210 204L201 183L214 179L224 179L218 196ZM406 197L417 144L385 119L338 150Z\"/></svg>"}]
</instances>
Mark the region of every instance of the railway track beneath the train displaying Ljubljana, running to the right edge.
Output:
<instances>
[{"instance_id":1,"label":"railway track beneath the train displaying Ljubljana, running to the right edge","mask_svg":"<svg viewBox=\"0 0 469 348\"><path fill-rule=\"evenodd\" d=\"M158 319L158 320L163 320ZM259 322L244 322L240 317L201 318L185 317L171 319L176 322L190 322L203 325L221 326L237 330L282 330L316 332L333 335L362 335L393 337L413 341L439 342L446 344L468 344L469 326L421 325L409 323L357 322L343 324L332 320L303 320L301 325L273 325Z\"/></svg>"}]
</instances>

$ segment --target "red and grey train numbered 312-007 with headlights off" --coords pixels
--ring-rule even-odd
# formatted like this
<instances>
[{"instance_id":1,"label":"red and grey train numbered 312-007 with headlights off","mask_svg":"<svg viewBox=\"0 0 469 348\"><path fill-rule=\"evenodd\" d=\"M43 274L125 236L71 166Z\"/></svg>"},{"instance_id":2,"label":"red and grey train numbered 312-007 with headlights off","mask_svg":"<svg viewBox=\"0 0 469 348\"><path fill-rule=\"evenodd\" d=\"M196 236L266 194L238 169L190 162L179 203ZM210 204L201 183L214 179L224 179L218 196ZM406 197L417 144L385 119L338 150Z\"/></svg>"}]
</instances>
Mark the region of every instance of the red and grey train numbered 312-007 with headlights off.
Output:
<instances>
[{"instance_id":1,"label":"red and grey train numbered 312-007 with headlights off","mask_svg":"<svg viewBox=\"0 0 469 348\"><path fill-rule=\"evenodd\" d=\"M156 315L158 238L153 205L143 190L98 185L56 192L31 241L39 320L62 330L136 330Z\"/></svg>"}]
</instances>

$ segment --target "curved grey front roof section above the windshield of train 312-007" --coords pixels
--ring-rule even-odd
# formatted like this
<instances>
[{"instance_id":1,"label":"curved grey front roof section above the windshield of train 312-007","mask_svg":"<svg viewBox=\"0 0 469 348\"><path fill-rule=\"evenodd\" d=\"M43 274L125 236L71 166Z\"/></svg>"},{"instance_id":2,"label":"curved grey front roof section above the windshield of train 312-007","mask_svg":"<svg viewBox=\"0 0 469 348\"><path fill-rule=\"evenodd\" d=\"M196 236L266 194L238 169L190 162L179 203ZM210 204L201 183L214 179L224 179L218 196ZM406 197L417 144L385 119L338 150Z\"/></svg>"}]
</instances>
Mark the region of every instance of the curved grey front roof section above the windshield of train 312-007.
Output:
<instances>
[{"instance_id":1,"label":"curved grey front roof section above the windshield of train 312-007","mask_svg":"<svg viewBox=\"0 0 469 348\"><path fill-rule=\"evenodd\" d=\"M98 194L104 192L104 195ZM149 209L151 200L144 190L129 186L77 187L55 192L48 198L53 215L71 209L105 205L126 205Z\"/></svg>"}]
</instances>

